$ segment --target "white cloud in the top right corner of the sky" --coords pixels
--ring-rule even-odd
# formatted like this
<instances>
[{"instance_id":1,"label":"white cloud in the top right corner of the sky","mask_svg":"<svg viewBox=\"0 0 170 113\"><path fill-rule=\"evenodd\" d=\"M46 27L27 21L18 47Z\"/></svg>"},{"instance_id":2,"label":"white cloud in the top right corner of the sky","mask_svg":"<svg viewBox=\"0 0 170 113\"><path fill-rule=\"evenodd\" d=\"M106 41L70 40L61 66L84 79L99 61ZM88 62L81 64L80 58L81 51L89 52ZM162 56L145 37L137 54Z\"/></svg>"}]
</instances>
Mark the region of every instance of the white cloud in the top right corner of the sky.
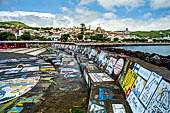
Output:
<instances>
[{"instance_id":1,"label":"white cloud in the top right corner of the sky","mask_svg":"<svg viewBox=\"0 0 170 113\"><path fill-rule=\"evenodd\" d=\"M150 2L151 8L157 10L159 8L170 8L169 0L151 0Z\"/></svg>"}]
</instances>

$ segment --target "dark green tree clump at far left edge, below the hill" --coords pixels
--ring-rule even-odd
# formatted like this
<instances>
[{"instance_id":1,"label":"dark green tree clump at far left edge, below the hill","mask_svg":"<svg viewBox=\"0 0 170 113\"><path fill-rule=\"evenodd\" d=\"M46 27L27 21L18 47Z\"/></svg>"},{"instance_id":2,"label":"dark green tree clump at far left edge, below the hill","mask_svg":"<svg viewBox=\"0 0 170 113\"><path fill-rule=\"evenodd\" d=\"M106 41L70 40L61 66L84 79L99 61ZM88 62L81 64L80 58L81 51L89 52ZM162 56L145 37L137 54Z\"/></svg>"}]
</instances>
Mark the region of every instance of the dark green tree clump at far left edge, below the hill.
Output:
<instances>
[{"instance_id":1,"label":"dark green tree clump at far left edge, below the hill","mask_svg":"<svg viewBox=\"0 0 170 113\"><path fill-rule=\"evenodd\" d=\"M15 35L13 33L10 32L1 32L0 33L0 40L4 41L4 40L9 40L9 39L16 39Z\"/></svg>"}]
</instances>

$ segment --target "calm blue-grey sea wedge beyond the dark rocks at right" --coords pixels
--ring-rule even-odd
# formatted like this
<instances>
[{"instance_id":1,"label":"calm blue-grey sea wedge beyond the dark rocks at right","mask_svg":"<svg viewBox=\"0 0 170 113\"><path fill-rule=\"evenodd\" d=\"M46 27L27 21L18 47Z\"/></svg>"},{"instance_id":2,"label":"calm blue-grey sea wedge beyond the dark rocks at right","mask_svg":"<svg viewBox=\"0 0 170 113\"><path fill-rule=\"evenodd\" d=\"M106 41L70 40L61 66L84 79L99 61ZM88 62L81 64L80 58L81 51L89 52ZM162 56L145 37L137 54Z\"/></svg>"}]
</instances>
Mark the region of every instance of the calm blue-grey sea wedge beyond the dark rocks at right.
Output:
<instances>
[{"instance_id":1,"label":"calm blue-grey sea wedge beyond the dark rocks at right","mask_svg":"<svg viewBox=\"0 0 170 113\"><path fill-rule=\"evenodd\" d=\"M141 51L148 53L157 53L163 56L170 55L170 45L166 46L119 46L113 48L122 48L131 51Z\"/></svg>"}]
</instances>

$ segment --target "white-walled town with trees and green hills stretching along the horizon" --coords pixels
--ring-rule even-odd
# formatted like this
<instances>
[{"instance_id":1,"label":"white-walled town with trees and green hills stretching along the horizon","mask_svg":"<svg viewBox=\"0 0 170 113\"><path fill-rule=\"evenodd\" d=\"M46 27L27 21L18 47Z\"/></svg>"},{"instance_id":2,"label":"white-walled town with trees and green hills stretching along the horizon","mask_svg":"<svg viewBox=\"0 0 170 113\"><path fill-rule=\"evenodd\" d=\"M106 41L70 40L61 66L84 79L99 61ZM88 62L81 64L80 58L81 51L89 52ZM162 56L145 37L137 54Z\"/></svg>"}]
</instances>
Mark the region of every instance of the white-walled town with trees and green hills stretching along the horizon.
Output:
<instances>
[{"instance_id":1,"label":"white-walled town with trees and green hills stretching along the horizon","mask_svg":"<svg viewBox=\"0 0 170 113\"><path fill-rule=\"evenodd\" d=\"M105 31L84 23L72 28L29 27L22 22L0 22L0 40L40 40L59 42L170 42L170 30Z\"/></svg>"}]
</instances>

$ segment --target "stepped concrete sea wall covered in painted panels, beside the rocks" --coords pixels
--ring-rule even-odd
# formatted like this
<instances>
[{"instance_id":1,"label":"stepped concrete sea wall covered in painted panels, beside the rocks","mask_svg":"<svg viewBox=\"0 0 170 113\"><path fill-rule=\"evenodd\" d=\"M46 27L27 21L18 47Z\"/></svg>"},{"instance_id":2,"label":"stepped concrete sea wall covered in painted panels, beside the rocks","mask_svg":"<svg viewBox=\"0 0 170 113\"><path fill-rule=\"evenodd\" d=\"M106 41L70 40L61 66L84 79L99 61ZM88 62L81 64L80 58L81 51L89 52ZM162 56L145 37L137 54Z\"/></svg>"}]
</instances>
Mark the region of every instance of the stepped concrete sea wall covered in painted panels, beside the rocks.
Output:
<instances>
[{"instance_id":1,"label":"stepped concrete sea wall covered in painted panels, beside the rocks","mask_svg":"<svg viewBox=\"0 0 170 113\"><path fill-rule=\"evenodd\" d=\"M170 112L170 81L155 72L151 64L138 63L133 57L117 54L115 50L65 45L59 48L75 55L80 64L91 89L88 113Z\"/></svg>"}]
</instances>

